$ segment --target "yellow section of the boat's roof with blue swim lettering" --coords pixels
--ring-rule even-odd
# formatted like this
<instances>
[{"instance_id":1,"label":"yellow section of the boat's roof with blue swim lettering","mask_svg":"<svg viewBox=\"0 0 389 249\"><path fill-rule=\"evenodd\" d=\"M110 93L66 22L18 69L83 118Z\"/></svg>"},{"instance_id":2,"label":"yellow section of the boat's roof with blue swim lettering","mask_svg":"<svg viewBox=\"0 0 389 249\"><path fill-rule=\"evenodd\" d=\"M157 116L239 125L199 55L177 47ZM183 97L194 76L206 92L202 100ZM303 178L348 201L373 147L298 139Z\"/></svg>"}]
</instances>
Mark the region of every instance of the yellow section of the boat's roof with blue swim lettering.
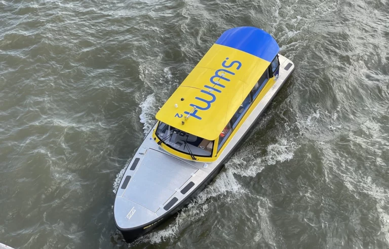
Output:
<instances>
[{"instance_id":1,"label":"yellow section of the boat's roof with blue swim lettering","mask_svg":"<svg viewBox=\"0 0 389 249\"><path fill-rule=\"evenodd\" d=\"M215 140L269 64L214 44L155 117L184 132Z\"/></svg>"}]
</instances>

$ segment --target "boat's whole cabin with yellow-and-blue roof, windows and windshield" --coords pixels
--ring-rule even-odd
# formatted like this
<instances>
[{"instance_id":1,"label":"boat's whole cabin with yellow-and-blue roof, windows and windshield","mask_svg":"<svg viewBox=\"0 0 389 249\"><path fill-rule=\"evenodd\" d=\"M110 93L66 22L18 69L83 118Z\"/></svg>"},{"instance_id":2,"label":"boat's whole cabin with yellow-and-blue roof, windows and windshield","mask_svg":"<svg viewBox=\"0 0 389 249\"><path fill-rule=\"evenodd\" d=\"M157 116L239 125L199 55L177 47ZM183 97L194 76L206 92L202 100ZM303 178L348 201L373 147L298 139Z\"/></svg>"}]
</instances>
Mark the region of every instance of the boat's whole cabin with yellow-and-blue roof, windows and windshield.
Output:
<instances>
[{"instance_id":1,"label":"boat's whole cabin with yellow-and-blue roof, windows and windshield","mask_svg":"<svg viewBox=\"0 0 389 249\"><path fill-rule=\"evenodd\" d=\"M152 137L166 151L188 160L214 161L275 84L277 42L263 30L250 31L224 32L159 110Z\"/></svg>"}]
</instances>

